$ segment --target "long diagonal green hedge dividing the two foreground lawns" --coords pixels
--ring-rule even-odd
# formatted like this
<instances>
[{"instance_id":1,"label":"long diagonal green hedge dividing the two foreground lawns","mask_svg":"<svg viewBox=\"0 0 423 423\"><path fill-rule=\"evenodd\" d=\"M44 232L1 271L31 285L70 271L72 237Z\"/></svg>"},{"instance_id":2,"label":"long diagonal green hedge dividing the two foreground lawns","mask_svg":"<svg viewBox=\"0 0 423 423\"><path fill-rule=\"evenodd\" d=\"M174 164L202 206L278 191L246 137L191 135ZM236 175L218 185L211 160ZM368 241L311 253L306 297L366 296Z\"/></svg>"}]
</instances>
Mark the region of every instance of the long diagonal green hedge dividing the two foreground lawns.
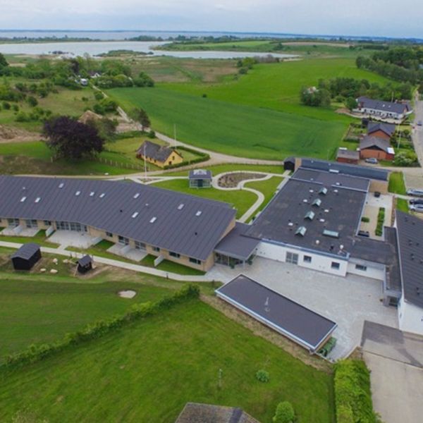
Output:
<instances>
[{"instance_id":1,"label":"long diagonal green hedge dividing the two foreground lawns","mask_svg":"<svg viewBox=\"0 0 423 423\"><path fill-rule=\"evenodd\" d=\"M198 286L192 284L185 285L173 295L162 298L157 302L135 304L125 314L111 317L110 319L99 320L93 324L89 324L85 329L67 333L61 341L40 345L33 344L20 353L8 355L4 363L0 364L0 371L39 362L61 350L71 347L71 345L78 345L92 339L101 338L107 333L120 329L133 321L158 314L173 305L190 300L191 298L199 298L199 296L200 288Z\"/></svg>"}]
</instances>

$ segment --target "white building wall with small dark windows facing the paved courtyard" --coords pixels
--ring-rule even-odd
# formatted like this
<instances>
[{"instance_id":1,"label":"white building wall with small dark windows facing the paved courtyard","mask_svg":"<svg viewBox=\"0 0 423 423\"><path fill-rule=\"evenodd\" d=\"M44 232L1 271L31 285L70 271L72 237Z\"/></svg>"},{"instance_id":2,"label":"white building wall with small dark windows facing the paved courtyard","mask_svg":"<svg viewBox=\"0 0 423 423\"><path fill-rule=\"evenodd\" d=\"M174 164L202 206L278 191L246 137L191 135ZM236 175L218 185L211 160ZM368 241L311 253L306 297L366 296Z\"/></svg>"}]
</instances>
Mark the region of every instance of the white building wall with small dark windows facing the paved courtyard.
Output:
<instances>
[{"instance_id":1,"label":"white building wall with small dark windows facing the paved courtyard","mask_svg":"<svg viewBox=\"0 0 423 423\"><path fill-rule=\"evenodd\" d=\"M276 260L277 262L286 262L287 251L298 254L298 266L307 267L307 269L324 271L326 273L338 276L345 276L345 274L347 273L348 262L346 260L338 259L336 257L326 257L324 255L298 250L295 247L285 247L283 245L266 243L265 241L262 241L257 246L258 257ZM305 262L304 256L312 257L312 262ZM332 269L332 262L339 263L339 269Z\"/></svg>"}]
</instances>

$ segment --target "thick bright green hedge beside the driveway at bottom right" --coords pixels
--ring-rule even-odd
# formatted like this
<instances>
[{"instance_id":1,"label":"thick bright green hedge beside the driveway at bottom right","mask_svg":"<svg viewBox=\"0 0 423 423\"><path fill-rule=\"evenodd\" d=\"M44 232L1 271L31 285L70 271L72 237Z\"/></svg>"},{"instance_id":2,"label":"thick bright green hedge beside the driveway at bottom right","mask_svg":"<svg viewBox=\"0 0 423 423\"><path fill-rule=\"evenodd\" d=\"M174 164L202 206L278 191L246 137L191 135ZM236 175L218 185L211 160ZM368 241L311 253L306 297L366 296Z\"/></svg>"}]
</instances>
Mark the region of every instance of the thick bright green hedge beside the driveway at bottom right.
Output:
<instances>
[{"instance_id":1,"label":"thick bright green hedge beside the driveway at bottom right","mask_svg":"<svg viewBox=\"0 0 423 423\"><path fill-rule=\"evenodd\" d=\"M362 360L335 364L335 407L337 423L381 423L373 410L370 372Z\"/></svg>"}]
</instances>

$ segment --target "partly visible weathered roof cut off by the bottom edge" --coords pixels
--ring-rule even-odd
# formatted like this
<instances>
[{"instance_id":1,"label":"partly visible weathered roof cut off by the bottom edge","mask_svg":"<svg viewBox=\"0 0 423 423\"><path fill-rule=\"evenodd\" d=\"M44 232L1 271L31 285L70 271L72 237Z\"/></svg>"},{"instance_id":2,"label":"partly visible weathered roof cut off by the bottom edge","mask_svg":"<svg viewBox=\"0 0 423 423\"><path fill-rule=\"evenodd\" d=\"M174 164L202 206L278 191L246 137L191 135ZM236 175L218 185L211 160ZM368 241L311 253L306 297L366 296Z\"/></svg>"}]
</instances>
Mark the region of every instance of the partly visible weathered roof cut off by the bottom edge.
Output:
<instances>
[{"instance_id":1,"label":"partly visible weathered roof cut off by the bottom edge","mask_svg":"<svg viewBox=\"0 0 423 423\"><path fill-rule=\"evenodd\" d=\"M187 403L175 423L259 423L238 407Z\"/></svg>"}]
</instances>

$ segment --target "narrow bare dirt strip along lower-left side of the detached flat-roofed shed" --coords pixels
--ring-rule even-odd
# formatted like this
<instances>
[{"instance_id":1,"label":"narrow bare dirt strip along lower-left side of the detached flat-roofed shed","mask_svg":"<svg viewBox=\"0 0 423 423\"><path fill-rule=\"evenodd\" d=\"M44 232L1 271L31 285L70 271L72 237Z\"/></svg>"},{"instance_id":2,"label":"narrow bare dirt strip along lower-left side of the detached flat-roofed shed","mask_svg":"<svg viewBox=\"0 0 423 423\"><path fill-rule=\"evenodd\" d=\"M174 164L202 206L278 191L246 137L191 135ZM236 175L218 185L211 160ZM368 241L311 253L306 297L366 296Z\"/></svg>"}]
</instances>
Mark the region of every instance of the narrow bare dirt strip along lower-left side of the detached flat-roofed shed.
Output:
<instances>
[{"instance_id":1,"label":"narrow bare dirt strip along lower-left side of the detached flat-roofed shed","mask_svg":"<svg viewBox=\"0 0 423 423\"><path fill-rule=\"evenodd\" d=\"M226 304L226 302L223 302L216 297L201 295L201 299L208 305L211 305L215 309L219 310L219 312L225 314L225 316L229 319L242 324L247 329L250 329L250 331L252 331L252 333L255 335L261 336L262 338L266 339L266 341L269 341L279 348L282 348L284 351L286 351L286 353L293 355L293 357L298 358L298 360L301 360L305 364L326 373L332 372L332 367L329 362L326 362L314 355L309 355L309 353L307 353L304 348L301 348L299 345L293 343L288 338L285 338L279 333L272 331L270 328L264 326L264 324L261 324L259 321L253 319L247 314L240 312L240 310L235 309L235 307Z\"/></svg>"}]
</instances>

